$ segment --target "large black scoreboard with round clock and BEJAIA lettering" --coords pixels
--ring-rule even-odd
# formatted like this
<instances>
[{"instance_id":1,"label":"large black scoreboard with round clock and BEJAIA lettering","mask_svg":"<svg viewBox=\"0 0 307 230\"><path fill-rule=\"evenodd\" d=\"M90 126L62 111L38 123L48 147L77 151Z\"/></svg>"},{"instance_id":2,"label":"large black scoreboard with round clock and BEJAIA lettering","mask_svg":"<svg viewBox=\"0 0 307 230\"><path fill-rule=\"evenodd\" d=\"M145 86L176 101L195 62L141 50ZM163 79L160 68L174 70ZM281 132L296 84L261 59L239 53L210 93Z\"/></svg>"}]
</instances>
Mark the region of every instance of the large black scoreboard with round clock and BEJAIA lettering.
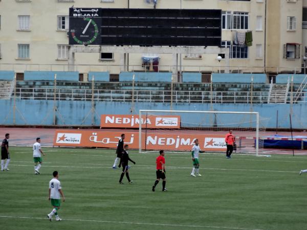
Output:
<instances>
[{"instance_id":1,"label":"large black scoreboard with round clock and BEJAIA lettering","mask_svg":"<svg viewBox=\"0 0 307 230\"><path fill-rule=\"evenodd\" d=\"M70 45L221 47L221 10L70 8Z\"/></svg>"}]
</instances>

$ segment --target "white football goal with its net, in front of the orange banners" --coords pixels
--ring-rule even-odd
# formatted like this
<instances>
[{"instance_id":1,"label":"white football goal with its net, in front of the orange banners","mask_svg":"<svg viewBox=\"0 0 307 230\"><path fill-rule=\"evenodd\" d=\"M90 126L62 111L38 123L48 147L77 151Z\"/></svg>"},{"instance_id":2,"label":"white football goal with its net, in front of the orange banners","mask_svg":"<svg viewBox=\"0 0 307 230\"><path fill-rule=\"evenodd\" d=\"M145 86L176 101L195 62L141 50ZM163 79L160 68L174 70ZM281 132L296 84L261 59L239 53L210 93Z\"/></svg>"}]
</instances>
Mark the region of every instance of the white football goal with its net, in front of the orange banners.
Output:
<instances>
[{"instance_id":1,"label":"white football goal with its net, in front of the orange banners","mask_svg":"<svg viewBox=\"0 0 307 230\"><path fill-rule=\"evenodd\" d=\"M258 112L139 110L139 152L191 151L194 140L206 152L226 152L225 136L232 130L233 152L264 154L268 119Z\"/></svg>"}]
</instances>

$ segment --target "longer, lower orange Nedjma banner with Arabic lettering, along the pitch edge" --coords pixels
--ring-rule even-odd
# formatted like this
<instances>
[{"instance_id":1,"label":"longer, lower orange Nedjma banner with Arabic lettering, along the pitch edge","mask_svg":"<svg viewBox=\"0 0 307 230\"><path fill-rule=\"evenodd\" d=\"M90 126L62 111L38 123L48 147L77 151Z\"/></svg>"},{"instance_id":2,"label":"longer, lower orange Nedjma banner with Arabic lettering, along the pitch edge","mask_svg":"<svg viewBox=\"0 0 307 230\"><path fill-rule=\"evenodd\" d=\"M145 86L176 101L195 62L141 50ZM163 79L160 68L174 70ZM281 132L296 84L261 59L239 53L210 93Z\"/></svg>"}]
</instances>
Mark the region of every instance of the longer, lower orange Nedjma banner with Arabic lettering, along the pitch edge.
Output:
<instances>
[{"instance_id":1,"label":"longer, lower orange Nedjma banner with Arabic lettering, along the pitch edge","mask_svg":"<svg viewBox=\"0 0 307 230\"><path fill-rule=\"evenodd\" d=\"M93 130L56 130L54 146L116 148L123 132ZM130 149L139 148L139 132L124 132L125 144ZM178 132L150 132L146 135L147 150L191 151L194 140L198 139L205 151L225 151L225 137L212 134L181 134ZM145 134L142 136L142 149L145 149Z\"/></svg>"}]
</instances>

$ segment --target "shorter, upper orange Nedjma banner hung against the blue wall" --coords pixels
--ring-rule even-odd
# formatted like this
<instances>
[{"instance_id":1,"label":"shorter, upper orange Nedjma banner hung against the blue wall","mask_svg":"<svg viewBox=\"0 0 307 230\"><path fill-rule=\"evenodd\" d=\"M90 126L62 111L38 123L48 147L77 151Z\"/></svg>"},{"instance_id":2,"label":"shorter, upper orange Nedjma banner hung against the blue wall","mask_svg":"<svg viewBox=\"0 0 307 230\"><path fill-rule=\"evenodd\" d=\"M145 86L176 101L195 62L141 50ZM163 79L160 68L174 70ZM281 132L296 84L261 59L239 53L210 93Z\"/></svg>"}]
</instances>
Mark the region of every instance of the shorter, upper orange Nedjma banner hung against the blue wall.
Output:
<instances>
[{"instance_id":1,"label":"shorter, upper orange Nedjma banner hung against the blue wall","mask_svg":"<svg viewBox=\"0 0 307 230\"><path fill-rule=\"evenodd\" d=\"M178 129L180 128L180 116L164 116L164 115L146 115L142 116L140 121L139 115L101 115L101 128L139 128L142 122L142 128L158 128L158 129Z\"/></svg>"}]
</instances>

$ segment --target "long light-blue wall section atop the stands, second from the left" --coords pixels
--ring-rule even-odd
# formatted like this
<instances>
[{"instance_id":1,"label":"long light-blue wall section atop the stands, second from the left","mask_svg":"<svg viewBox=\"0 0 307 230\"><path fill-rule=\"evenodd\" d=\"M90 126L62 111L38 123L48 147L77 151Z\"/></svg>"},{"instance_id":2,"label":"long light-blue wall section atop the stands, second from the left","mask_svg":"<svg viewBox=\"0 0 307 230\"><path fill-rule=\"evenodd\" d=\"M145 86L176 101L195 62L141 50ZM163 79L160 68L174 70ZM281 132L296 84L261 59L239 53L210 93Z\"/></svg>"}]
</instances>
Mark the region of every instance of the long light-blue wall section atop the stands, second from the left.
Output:
<instances>
[{"instance_id":1,"label":"long light-blue wall section atop the stands, second from the left","mask_svg":"<svg viewBox=\"0 0 307 230\"><path fill-rule=\"evenodd\" d=\"M25 71L25 81L79 81L79 72L64 71Z\"/></svg>"}]
</instances>

